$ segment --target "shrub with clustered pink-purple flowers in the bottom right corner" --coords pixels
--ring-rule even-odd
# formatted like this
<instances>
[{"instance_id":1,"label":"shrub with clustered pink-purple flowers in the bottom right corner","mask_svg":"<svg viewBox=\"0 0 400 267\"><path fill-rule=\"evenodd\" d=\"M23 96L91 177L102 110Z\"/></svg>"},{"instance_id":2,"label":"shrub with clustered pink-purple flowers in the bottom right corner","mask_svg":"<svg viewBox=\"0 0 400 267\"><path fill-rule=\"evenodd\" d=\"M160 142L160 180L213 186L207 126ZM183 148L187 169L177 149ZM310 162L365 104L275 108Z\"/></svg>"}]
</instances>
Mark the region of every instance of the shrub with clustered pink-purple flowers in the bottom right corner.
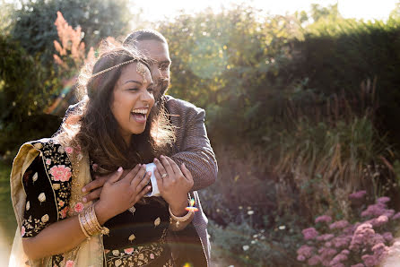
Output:
<instances>
[{"instance_id":1,"label":"shrub with clustered pink-purple flowers in the bottom right corner","mask_svg":"<svg viewBox=\"0 0 400 267\"><path fill-rule=\"evenodd\" d=\"M353 206L360 206L365 191L349 195ZM394 248L392 231L400 219L400 212L387 208L390 198L377 199L354 218L355 223L347 220L332 222L328 215L315 220L315 227L302 230L307 242L297 250L297 260L310 266L334 267L370 267L380 263ZM360 208L360 207L359 207ZM396 214L395 214L396 213Z\"/></svg>"}]
</instances>

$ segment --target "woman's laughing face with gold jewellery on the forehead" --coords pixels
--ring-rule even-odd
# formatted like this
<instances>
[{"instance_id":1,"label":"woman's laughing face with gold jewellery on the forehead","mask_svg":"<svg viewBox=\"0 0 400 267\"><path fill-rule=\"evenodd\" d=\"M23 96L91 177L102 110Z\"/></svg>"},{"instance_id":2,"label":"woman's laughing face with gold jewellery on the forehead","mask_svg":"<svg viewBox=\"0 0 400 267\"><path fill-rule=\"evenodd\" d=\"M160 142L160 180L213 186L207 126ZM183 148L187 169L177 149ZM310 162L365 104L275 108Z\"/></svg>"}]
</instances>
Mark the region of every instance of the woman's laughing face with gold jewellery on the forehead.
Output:
<instances>
[{"instance_id":1,"label":"woman's laughing face with gold jewellery on the forehead","mask_svg":"<svg viewBox=\"0 0 400 267\"><path fill-rule=\"evenodd\" d=\"M114 86L111 112L126 143L132 134L142 134L154 105L152 76L145 65L126 65ZM139 73L138 73L139 71Z\"/></svg>"}]
</instances>

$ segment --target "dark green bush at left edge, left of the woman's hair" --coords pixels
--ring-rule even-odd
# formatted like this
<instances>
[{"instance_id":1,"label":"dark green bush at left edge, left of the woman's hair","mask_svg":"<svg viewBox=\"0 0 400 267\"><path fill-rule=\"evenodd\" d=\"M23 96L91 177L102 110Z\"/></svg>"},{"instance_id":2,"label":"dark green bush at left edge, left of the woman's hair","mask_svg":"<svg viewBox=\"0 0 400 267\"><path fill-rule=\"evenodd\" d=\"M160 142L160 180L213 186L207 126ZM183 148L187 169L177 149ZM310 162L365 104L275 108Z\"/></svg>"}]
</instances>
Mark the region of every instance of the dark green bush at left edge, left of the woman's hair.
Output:
<instances>
[{"instance_id":1,"label":"dark green bush at left edge, left of the woman's hair","mask_svg":"<svg viewBox=\"0 0 400 267\"><path fill-rule=\"evenodd\" d=\"M59 120L42 114L57 81L46 81L41 65L2 35L0 58L0 154L3 155L6 151L14 152L24 141L51 136L57 131Z\"/></svg>"}]
</instances>

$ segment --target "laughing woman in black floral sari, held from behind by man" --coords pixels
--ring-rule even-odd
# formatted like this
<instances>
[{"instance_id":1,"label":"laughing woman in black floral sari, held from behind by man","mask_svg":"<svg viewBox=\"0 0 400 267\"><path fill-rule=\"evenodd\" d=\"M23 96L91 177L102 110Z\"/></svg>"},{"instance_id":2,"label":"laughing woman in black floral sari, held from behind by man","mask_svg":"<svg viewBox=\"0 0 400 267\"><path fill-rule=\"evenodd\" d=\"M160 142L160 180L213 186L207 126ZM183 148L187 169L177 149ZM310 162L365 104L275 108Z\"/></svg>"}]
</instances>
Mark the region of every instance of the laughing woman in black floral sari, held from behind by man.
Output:
<instances>
[{"instance_id":1,"label":"laughing woman in black floral sari, held from behind by man","mask_svg":"<svg viewBox=\"0 0 400 267\"><path fill-rule=\"evenodd\" d=\"M114 47L81 77L86 100L63 130L23 144L13 161L10 265L173 266L165 237L193 219L185 209L193 178L162 156L174 136L153 108L148 62ZM143 198L151 173L141 163L154 158L164 173L156 171L161 197ZM100 200L83 203L83 185L108 174Z\"/></svg>"}]
</instances>

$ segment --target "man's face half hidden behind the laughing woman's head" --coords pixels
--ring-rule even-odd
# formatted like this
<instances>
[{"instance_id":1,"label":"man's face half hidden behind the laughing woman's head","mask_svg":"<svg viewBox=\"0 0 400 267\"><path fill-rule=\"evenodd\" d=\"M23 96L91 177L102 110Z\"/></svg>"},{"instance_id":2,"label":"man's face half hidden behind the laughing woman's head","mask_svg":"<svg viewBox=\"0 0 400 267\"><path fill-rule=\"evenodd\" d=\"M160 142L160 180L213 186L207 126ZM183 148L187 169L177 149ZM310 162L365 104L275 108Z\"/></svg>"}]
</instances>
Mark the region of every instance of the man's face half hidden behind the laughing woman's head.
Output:
<instances>
[{"instance_id":1,"label":"man's face half hidden behind the laughing woman's head","mask_svg":"<svg viewBox=\"0 0 400 267\"><path fill-rule=\"evenodd\" d=\"M145 56L153 60L151 66L152 80L154 81L154 98L160 99L161 94L170 85L170 51L168 45L154 39L140 40L136 47Z\"/></svg>"}]
</instances>

